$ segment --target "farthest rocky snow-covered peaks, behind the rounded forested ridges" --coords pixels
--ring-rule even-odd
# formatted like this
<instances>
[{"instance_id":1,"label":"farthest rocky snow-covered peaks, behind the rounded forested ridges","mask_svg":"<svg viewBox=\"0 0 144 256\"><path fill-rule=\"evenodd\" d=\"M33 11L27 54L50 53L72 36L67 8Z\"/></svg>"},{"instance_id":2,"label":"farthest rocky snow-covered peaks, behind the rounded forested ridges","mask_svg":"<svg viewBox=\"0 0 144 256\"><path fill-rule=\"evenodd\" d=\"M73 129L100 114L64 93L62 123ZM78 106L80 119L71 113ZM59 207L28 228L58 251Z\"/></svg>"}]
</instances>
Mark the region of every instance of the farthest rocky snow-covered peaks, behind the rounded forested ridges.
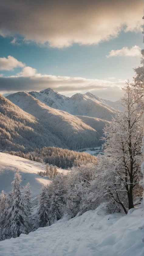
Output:
<instances>
[{"instance_id":1,"label":"farthest rocky snow-covered peaks, behind the rounded forested ridges","mask_svg":"<svg viewBox=\"0 0 144 256\"><path fill-rule=\"evenodd\" d=\"M90 92L76 93L69 98L48 88L40 92L29 92L29 94L47 106L66 111L74 116L91 116L111 121L111 117L115 115L115 110L111 106Z\"/></svg>"}]
</instances>

